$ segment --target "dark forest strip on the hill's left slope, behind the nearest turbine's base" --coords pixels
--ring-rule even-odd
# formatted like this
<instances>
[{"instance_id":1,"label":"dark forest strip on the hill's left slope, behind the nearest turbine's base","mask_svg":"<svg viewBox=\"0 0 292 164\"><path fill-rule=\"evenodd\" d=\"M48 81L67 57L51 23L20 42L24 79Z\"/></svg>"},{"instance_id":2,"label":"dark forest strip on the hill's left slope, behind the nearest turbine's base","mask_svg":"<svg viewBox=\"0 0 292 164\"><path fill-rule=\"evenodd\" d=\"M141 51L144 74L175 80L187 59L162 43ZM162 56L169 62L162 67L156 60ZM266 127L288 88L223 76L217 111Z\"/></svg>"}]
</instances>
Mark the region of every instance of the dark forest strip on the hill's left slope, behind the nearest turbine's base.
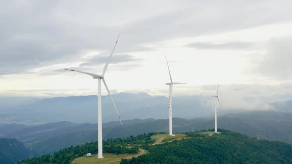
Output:
<instances>
[{"instance_id":1,"label":"dark forest strip on the hill's left slope, behind the nearest turbine's base","mask_svg":"<svg viewBox=\"0 0 292 164\"><path fill-rule=\"evenodd\" d=\"M139 151L138 147L143 145L146 146L154 142L154 140L151 140L150 136L155 134L158 133L142 134L136 137L131 135L130 137L125 138L108 139L103 141L103 152L136 154ZM129 147L129 144L131 147ZM87 153L97 154L97 141L86 143L81 146L71 146L54 152L53 155L47 154L41 157L22 160L18 162L18 164L70 164L76 157L81 157Z\"/></svg>"}]
</instances>

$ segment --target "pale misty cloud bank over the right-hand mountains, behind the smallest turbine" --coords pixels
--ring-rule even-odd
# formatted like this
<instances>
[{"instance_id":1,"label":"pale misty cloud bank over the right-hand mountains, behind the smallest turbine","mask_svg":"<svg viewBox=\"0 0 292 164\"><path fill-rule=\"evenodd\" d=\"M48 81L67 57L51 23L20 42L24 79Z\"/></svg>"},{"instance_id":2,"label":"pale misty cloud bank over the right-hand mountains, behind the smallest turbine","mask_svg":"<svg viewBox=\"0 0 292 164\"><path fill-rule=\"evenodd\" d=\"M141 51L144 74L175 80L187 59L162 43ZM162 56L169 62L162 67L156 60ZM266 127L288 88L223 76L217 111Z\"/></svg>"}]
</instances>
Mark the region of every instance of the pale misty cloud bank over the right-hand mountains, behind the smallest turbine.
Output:
<instances>
[{"instance_id":1,"label":"pale misty cloud bank over the right-hand mountains, behind the smallest turbine","mask_svg":"<svg viewBox=\"0 0 292 164\"><path fill-rule=\"evenodd\" d=\"M292 99L292 82L281 84L220 84L218 96L222 110L274 110L270 102L286 101ZM212 106L214 99L211 95L216 93L217 84L177 87L175 95L204 95L208 104ZM162 92L162 91L161 91ZM167 90L164 90L165 94ZM221 110L221 109L220 109Z\"/></svg>"}]
</instances>

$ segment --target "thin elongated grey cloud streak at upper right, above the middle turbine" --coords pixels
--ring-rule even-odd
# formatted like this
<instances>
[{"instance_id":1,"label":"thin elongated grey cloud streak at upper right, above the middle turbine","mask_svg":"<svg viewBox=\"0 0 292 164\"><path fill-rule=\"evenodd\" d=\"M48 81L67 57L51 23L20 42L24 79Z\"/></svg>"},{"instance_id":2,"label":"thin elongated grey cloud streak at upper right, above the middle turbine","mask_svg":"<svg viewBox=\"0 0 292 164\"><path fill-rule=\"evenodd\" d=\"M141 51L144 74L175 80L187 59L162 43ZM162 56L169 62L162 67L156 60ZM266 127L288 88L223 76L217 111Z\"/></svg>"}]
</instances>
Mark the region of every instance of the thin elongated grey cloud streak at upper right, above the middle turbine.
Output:
<instances>
[{"instance_id":1,"label":"thin elongated grey cloud streak at upper right, above the middle turbine","mask_svg":"<svg viewBox=\"0 0 292 164\"><path fill-rule=\"evenodd\" d=\"M186 45L187 47L197 49L251 49L255 47L251 42L224 42L224 43L209 43L209 42L192 42Z\"/></svg>"}]
</instances>

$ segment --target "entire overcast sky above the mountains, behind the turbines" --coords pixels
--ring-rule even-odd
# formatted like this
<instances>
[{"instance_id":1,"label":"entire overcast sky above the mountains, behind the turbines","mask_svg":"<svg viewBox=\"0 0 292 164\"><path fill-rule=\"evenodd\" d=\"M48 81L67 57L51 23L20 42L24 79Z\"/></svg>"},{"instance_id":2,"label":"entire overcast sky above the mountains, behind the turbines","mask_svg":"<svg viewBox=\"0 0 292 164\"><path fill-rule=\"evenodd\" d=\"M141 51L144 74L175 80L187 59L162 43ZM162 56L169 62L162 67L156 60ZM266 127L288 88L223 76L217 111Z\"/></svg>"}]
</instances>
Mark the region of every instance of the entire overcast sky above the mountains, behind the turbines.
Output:
<instances>
[{"instance_id":1,"label":"entire overcast sky above the mountains, behind the turbines","mask_svg":"<svg viewBox=\"0 0 292 164\"><path fill-rule=\"evenodd\" d=\"M0 95L174 96L216 91L226 107L292 98L291 0L1 0ZM106 94L102 86L102 93Z\"/></svg>"}]
</instances>

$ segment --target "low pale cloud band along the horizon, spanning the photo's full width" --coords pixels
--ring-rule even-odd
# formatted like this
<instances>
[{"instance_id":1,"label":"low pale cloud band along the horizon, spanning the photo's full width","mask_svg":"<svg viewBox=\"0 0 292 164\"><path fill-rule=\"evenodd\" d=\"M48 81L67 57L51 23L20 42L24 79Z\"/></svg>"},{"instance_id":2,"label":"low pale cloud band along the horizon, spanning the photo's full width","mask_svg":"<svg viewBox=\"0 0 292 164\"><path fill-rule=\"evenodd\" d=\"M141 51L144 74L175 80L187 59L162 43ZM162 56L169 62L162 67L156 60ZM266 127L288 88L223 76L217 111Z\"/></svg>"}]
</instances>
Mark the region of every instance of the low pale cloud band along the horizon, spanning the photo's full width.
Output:
<instances>
[{"instance_id":1,"label":"low pale cloud band along the horizon, spanning the photo's full width","mask_svg":"<svg viewBox=\"0 0 292 164\"><path fill-rule=\"evenodd\" d=\"M292 82L281 84L220 84L219 99L222 109L219 110L271 110L271 102L282 102L292 99ZM213 108L214 99L211 95L216 92L217 84L213 85L187 85L175 86L173 96L203 95L204 105ZM124 91L124 90L123 90ZM112 93L120 92L119 89L111 90ZM147 92L150 95L164 95L168 97L169 89L165 85L159 88L129 89L126 92ZM3 96L32 96L55 97L72 95L95 95L96 90L89 88L76 89L31 89L31 90L2 90ZM104 95L107 94L103 89Z\"/></svg>"}]
</instances>

